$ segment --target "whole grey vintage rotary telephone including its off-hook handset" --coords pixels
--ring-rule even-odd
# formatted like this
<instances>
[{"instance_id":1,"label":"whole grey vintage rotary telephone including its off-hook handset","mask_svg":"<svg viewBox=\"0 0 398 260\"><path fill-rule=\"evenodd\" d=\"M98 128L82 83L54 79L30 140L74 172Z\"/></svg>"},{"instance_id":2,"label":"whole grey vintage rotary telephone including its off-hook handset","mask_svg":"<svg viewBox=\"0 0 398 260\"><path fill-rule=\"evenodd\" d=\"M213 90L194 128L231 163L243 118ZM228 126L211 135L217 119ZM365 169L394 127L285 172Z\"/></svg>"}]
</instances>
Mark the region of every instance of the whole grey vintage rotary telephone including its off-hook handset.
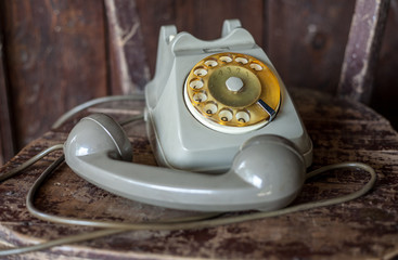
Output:
<instances>
[{"instance_id":1,"label":"whole grey vintage rotary telephone including its off-hook handset","mask_svg":"<svg viewBox=\"0 0 398 260\"><path fill-rule=\"evenodd\" d=\"M236 20L202 41L161 28L145 88L147 135L161 166L132 164L124 130L91 115L64 145L68 166L120 196L198 211L272 210L299 193L312 144L265 52Z\"/></svg>"}]
</instances>

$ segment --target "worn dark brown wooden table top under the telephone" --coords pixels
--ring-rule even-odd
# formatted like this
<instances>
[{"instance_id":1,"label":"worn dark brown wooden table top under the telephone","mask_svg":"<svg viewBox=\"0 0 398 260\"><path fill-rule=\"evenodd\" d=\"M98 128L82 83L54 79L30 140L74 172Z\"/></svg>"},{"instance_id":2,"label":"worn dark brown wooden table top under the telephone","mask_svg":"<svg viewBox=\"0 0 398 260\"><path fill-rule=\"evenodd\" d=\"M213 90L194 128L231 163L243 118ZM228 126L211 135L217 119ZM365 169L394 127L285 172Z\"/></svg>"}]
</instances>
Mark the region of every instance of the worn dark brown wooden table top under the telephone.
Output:
<instances>
[{"instance_id":1,"label":"worn dark brown wooden table top under the telephone","mask_svg":"<svg viewBox=\"0 0 398 260\"><path fill-rule=\"evenodd\" d=\"M21 255L26 259L363 259L398 256L398 134L370 108L308 90L292 96L313 142L316 169L341 161L363 161L378 174L365 196L342 205L282 217L189 231L137 231L78 245ZM124 119L139 113L142 102L112 102L85 110L108 113ZM132 109L131 109L132 108ZM78 118L70 119L30 143L1 172L53 144L65 141ZM134 145L134 161L155 165L143 122L126 127ZM28 188L61 152L0 184L0 242L23 246L79 234L92 229L38 220L25 208ZM1 173L0 173L1 174ZM362 171L332 171L307 183L294 204L330 198L358 190L369 180ZM145 221L190 212L139 204L112 195L77 177L62 165L38 193L36 206L61 216ZM13 259L10 257L10 259Z\"/></svg>"}]
</instances>

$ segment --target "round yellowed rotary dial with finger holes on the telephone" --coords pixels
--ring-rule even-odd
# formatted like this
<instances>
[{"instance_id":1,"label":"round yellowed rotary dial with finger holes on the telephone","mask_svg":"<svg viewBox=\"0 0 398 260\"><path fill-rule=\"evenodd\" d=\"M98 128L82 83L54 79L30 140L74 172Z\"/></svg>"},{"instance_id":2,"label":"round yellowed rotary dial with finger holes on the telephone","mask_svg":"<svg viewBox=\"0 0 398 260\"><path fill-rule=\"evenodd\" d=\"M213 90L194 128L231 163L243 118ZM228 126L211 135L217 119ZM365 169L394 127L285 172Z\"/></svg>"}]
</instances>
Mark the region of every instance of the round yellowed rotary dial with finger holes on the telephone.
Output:
<instances>
[{"instance_id":1,"label":"round yellowed rotary dial with finger holes on the telephone","mask_svg":"<svg viewBox=\"0 0 398 260\"><path fill-rule=\"evenodd\" d=\"M275 116L280 84L257 58L218 53L200 61L184 84L184 99L193 116L205 126L229 133L247 132Z\"/></svg>"}]
</instances>

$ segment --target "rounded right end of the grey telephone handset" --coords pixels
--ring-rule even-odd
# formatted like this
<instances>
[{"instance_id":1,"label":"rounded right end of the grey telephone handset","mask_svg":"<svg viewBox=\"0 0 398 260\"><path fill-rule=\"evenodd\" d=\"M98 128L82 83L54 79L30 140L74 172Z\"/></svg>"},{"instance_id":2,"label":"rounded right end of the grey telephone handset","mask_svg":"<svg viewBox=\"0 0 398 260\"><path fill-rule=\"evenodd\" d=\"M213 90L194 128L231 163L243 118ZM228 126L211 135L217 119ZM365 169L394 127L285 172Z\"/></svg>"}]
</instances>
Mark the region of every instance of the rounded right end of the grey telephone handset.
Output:
<instances>
[{"instance_id":1,"label":"rounded right end of the grey telephone handset","mask_svg":"<svg viewBox=\"0 0 398 260\"><path fill-rule=\"evenodd\" d=\"M295 145L272 134L247 140L235 155L231 170L262 192L281 194L297 191L306 174L304 158Z\"/></svg>"}]
</instances>

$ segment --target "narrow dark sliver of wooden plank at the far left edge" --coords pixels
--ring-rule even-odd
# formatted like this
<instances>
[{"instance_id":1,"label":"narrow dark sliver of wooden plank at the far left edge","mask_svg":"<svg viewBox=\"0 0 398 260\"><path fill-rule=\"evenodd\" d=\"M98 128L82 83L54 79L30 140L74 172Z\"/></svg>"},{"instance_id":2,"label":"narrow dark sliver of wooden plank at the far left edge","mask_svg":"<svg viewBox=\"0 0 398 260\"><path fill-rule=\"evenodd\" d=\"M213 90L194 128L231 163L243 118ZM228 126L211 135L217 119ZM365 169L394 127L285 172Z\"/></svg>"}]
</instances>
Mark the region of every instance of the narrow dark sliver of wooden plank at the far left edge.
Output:
<instances>
[{"instance_id":1,"label":"narrow dark sliver of wooden plank at the far left edge","mask_svg":"<svg viewBox=\"0 0 398 260\"><path fill-rule=\"evenodd\" d=\"M2 25L2 21L0 20L0 166L15 155L9 104L10 95L4 66Z\"/></svg>"}]
</instances>

